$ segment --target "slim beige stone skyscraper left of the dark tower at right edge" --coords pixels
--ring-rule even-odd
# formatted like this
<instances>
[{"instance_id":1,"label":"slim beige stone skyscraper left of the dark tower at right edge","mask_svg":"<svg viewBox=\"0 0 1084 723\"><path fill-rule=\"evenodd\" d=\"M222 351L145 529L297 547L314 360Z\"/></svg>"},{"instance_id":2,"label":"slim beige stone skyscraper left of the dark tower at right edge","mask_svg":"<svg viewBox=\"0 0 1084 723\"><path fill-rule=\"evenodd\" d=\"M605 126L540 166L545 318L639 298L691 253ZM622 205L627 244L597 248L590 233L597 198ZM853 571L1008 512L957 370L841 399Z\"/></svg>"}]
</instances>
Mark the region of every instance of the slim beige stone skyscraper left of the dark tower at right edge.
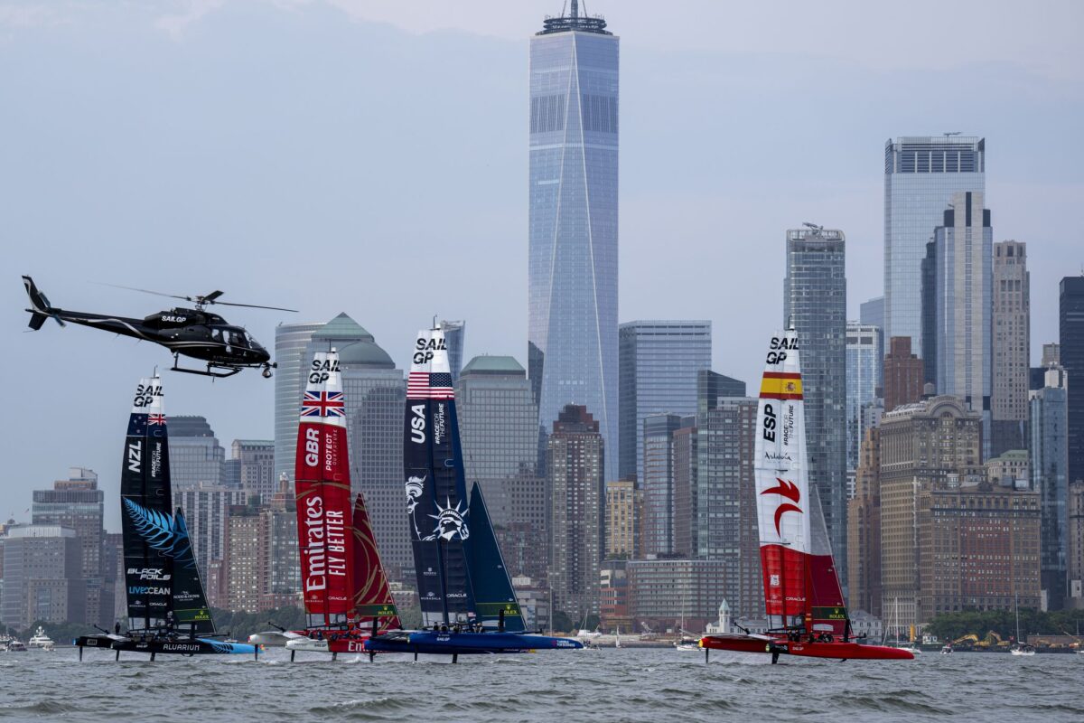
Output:
<instances>
[{"instance_id":1,"label":"slim beige stone skyscraper left of the dark tower at right edge","mask_svg":"<svg viewBox=\"0 0 1084 723\"><path fill-rule=\"evenodd\" d=\"M1031 274L1027 244L994 244L991 454L1028 449Z\"/></svg>"}]
</instances>

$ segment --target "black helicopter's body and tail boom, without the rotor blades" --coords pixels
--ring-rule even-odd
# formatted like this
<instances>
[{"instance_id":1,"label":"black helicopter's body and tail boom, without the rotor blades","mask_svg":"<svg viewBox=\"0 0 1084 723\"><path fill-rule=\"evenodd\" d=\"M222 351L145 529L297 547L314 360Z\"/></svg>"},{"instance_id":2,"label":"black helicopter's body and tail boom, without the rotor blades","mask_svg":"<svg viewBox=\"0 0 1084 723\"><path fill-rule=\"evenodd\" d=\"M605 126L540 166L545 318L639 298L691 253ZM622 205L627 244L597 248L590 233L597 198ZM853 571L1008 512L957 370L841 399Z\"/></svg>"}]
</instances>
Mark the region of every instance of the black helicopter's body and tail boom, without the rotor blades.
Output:
<instances>
[{"instance_id":1,"label":"black helicopter's body and tail boom, without the rotor blades","mask_svg":"<svg viewBox=\"0 0 1084 723\"><path fill-rule=\"evenodd\" d=\"M196 309L169 309L144 319L130 319L50 308L49 315L160 344L175 353L216 366L262 366L271 359L244 328L227 323L216 313Z\"/></svg>"}]
</instances>

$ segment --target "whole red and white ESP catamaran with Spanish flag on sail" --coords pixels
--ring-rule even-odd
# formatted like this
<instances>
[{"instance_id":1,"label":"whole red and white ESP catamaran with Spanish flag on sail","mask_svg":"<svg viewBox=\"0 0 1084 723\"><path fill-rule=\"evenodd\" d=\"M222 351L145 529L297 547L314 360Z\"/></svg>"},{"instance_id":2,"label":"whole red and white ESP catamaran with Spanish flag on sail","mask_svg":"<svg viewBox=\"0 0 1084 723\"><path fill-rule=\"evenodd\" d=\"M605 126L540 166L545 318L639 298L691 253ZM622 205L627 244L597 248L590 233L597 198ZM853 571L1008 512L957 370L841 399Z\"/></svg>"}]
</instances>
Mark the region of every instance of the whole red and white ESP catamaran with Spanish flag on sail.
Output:
<instances>
[{"instance_id":1,"label":"whole red and white ESP catamaran with Spanish flag on sail","mask_svg":"<svg viewBox=\"0 0 1084 723\"><path fill-rule=\"evenodd\" d=\"M754 483L766 634L705 635L710 650L838 659L911 660L898 648L862 645L853 636L828 533L805 463L805 418L798 336L772 337L757 412Z\"/></svg>"}]
</instances>

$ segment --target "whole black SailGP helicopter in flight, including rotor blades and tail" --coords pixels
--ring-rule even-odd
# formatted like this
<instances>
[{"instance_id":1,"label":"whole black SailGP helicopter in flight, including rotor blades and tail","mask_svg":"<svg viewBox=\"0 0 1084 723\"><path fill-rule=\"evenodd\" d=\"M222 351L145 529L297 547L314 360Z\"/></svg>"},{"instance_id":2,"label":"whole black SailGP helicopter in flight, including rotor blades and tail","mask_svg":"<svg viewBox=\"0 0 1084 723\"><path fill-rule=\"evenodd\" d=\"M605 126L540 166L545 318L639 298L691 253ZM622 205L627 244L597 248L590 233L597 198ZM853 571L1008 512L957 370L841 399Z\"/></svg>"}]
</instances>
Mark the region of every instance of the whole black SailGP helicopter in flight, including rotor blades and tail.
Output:
<instances>
[{"instance_id":1,"label":"whole black SailGP helicopter in flight, including rotor blades and tail","mask_svg":"<svg viewBox=\"0 0 1084 723\"><path fill-rule=\"evenodd\" d=\"M144 319L129 319L125 317L111 317L108 314L85 313L81 311L67 311L53 307L49 304L49 298L42 294L34 279L23 276L23 285L26 286L26 294L30 297L30 328L38 331L50 318L61 326L66 326L65 322L82 324L92 328L101 328L124 336L132 336L137 339L153 341L173 352L173 372L184 372L185 374L199 374L215 378L225 378L233 376L244 369L262 369L264 378L271 377L271 370L278 367L271 362L271 354L260 346L253 335L241 326L228 323L217 313L206 310L210 305L222 305L231 307L248 307L253 309L274 309L278 311L296 311L296 309L284 309L282 307L264 307L256 304L235 304L231 301L219 301L222 292L215 291L206 296L178 296L175 294L162 294L145 288L132 288L120 286L133 292L167 296L175 299L183 299L195 305L195 309L175 307L158 313L153 313ZM107 284L112 286L113 284ZM206 371L199 369L188 369L180 366L181 356L199 359L207 362Z\"/></svg>"}]
</instances>

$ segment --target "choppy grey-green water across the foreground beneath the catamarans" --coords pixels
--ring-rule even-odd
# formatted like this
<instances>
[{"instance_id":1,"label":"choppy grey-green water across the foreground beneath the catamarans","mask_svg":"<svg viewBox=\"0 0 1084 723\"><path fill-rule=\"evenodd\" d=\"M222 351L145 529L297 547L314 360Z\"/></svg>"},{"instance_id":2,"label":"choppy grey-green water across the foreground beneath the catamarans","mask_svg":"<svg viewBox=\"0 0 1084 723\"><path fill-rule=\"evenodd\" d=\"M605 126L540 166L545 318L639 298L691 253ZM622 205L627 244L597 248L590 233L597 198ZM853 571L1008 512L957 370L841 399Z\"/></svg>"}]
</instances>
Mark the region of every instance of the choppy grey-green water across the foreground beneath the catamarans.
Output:
<instances>
[{"instance_id":1,"label":"choppy grey-green water across the foreground beneath the catamarans","mask_svg":"<svg viewBox=\"0 0 1084 723\"><path fill-rule=\"evenodd\" d=\"M926 654L787 660L674 649L406 656L337 662L282 649L180 658L73 648L0 654L0 720L64 721L1081 721L1084 656ZM751 719L750 716L754 716Z\"/></svg>"}]
</instances>

